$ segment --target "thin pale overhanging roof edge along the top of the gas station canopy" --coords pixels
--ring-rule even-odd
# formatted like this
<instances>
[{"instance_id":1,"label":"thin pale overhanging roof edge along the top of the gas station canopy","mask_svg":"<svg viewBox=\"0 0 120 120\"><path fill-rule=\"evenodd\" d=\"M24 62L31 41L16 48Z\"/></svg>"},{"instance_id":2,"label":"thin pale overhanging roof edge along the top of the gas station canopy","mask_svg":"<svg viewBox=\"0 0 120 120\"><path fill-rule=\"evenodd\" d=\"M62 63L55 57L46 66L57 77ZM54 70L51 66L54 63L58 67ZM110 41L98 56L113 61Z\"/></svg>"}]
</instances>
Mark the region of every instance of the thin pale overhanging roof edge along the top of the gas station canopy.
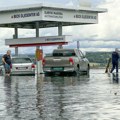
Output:
<instances>
[{"instance_id":1,"label":"thin pale overhanging roof edge along the top of the gas station canopy","mask_svg":"<svg viewBox=\"0 0 120 120\"><path fill-rule=\"evenodd\" d=\"M30 5L22 5L22 6L12 6L12 7L2 7L0 8L0 12L7 11L18 11L18 10L27 10L27 9L36 9L36 8L54 8L54 9L65 9L65 10L83 10L83 11L93 11L93 12L107 12L107 9L103 8L95 8L95 7L76 7L76 6L65 6L62 4L30 4Z\"/></svg>"}]
</instances>

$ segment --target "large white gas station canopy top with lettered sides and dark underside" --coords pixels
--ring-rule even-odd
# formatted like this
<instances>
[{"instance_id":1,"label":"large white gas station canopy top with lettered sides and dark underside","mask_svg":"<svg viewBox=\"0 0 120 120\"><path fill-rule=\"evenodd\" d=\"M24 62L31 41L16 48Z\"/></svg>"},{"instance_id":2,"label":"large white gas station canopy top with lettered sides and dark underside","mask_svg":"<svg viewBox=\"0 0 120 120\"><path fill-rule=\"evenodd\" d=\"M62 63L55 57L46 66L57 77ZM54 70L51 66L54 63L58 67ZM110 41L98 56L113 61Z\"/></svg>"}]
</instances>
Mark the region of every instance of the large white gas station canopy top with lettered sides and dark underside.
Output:
<instances>
[{"instance_id":1,"label":"large white gas station canopy top with lettered sides and dark underside","mask_svg":"<svg viewBox=\"0 0 120 120\"><path fill-rule=\"evenodd\" d=\"M106 9L92 7L65 7L62 5L35 4L0 9L0 27L35 29L39 28L84 25L98 23L98 13Z\"/></svg>"}]
</instances>

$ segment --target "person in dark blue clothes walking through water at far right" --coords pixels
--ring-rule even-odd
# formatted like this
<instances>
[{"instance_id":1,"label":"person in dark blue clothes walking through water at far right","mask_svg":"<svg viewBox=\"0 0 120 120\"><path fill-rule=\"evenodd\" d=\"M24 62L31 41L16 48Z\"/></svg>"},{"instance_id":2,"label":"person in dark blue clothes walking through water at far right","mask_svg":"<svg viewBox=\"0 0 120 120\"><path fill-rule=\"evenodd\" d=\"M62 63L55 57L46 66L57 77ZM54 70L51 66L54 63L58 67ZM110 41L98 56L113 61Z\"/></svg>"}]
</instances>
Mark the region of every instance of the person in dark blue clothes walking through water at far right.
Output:
<instances>
[{"instance_id":1,"label":"person in dark blue clothes walking through water at far right","mask_svg":"<svg viewBox=\"0 0 120 120\"><path fill-rule=\"evenodd\" d=\"M115 51L112 53L112 69L111 73L113 70L116 68L116 73L118 73L118 60L119 60L119 54L118 54L118 49L116 48Z\"/></svg>"}]
</instances>

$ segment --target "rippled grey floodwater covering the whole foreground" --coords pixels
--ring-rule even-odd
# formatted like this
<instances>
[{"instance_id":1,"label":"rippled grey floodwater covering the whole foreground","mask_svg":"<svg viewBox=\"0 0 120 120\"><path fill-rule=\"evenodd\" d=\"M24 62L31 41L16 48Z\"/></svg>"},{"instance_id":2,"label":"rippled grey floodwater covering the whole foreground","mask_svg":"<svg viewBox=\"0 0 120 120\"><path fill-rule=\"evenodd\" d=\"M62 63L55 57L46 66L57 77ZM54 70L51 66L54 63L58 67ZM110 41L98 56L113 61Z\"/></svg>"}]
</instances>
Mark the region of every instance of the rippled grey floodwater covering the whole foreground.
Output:
<instances>
[{"instance_id":1,"label":"rippled grey floodwater covering the whole foreground","mask_svg":"<svg viewBox=\"0 0 120 120\"><path fill-rule=\"evenodd\" d=\"M119 80L104 71L0 76L0 120L120 120Z\"/></svg>"}]
</instances>

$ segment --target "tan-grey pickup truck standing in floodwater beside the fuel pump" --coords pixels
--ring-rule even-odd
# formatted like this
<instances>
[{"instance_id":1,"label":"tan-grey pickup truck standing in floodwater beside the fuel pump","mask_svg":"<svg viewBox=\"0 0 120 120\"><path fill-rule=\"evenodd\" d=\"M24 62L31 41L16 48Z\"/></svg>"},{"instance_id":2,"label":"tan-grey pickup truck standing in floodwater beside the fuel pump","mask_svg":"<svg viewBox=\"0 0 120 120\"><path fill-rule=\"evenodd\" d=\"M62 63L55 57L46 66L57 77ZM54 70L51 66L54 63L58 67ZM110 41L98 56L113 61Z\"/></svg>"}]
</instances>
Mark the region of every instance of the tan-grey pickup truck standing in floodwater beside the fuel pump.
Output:
<instances>
[{"instance_id":1,"label":"tan-grey pickup truck standing in floodwater beside the fuel pump","mask_svg":"<svg viewBox=\"0 0 120 120\"><path fill-rule=\"evenodd\" d=\"M43 59L43 71L51 73L89 73L88 59L78 49L55 49L50 56Z\"/></svg>"}]
</instances>

